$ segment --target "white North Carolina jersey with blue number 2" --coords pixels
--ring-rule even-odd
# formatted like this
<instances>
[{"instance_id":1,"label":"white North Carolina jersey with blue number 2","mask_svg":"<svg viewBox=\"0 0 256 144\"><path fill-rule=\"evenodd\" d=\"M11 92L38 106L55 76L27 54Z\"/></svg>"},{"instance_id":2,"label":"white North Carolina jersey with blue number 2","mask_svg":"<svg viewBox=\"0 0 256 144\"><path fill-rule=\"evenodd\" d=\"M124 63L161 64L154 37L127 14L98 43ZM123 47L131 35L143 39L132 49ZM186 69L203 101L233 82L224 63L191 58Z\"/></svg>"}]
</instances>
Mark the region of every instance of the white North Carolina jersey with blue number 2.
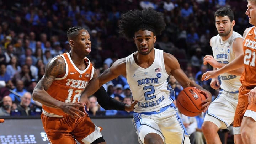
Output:
<instances>
[{"instance_id":1,"label":"white North Carolina jersey with blue number 2","mask_svg":"<svg viewBox=\"0 0 256 144\"><path fill-rule=\"evenodd\" d=\"M134 101L138 101L134 112L158 111L172 103L168 77L162 50L155 49L154 62L146 69L136 64L134 53L126 57L127 82Z\"/></svg>"}]
</instances>

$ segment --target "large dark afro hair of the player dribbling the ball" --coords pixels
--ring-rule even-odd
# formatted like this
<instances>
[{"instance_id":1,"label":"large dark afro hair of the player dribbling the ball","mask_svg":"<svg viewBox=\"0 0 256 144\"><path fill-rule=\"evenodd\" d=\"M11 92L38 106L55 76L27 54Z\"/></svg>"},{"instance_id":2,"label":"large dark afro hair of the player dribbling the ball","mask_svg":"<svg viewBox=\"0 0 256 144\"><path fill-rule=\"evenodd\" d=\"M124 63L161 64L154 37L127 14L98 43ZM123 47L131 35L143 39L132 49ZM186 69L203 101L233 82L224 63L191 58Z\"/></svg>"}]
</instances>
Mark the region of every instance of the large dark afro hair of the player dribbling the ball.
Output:
<instances>
[{"instance_id":1,"label":"large dark afro hair of the player dribbling the ball","mask_svg":"<svg viewBox=\"0 0 256 144\"><path fill-rule=\"evenodd\" d=\"M134 33L139 30L148 30L159 35L164 30L166 24L164 15L152 8L143 10L130 10L121 15L119 21L119 33L126 39L131 40Z\"/></svg>"}]
</instances>

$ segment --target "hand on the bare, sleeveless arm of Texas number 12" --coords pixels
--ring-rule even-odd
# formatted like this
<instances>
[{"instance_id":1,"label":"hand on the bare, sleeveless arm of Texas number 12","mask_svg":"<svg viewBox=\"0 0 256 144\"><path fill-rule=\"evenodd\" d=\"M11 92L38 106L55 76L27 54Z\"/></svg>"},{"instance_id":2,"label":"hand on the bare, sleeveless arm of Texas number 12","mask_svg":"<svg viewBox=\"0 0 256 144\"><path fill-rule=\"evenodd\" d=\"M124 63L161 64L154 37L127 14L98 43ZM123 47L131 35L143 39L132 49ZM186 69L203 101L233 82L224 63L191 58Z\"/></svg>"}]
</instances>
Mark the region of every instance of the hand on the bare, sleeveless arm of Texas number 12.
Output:
<instances>
[{"instance_id":1,"label":"hand on the bare, sleeveless arm of Texas number 12","mask_svg":"<svg viewBox=\"0 0 256 144\"><path fill-rule=\"evenodd\" d=\"M81 108L84 109L84 105L81 105L79 102L78 103L71 103L71 102L64 102L61 106L60 109L70 115L72 118L81 118L81 116L85 116L85 112L81 111Z\"/></svg>"}]
</instances>

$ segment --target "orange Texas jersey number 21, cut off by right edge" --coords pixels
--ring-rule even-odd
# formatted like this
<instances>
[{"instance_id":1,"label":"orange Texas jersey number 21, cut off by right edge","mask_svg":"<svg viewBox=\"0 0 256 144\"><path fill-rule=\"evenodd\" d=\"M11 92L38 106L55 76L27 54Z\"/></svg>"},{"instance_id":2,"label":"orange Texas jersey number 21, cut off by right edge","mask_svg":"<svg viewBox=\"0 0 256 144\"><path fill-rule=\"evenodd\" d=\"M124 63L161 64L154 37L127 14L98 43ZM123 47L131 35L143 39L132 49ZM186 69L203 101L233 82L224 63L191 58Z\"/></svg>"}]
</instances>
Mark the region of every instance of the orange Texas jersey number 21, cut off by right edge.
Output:
<instances>
[{"instance_id":1,"label":"orange Texas jersey number 21, cut off by right edge","mask_svg":"<svg viewBox=\"0 0 256 144\"><path fill-rule=\"evenodd\" d=\"M256 34L255 27L252 27L244 38L244 72L241 75L242 85L256 86Z\"/></svg>"}]
</instances>

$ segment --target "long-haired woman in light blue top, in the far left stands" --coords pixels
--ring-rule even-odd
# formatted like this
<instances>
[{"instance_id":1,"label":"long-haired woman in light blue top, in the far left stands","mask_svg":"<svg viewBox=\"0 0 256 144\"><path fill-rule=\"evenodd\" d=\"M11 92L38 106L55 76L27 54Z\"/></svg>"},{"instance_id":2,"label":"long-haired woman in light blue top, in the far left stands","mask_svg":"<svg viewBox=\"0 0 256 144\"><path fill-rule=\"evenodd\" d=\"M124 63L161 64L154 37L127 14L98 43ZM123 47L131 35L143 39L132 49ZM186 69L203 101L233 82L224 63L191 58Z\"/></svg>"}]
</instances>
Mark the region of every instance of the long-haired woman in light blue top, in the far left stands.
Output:
<instances>
[{"instance_id":1,"label":"long-haired woman in light blue top, in the far left stands","mask_svg":"<svg viewBox=\"0 0 256 144\"><path fill-rule=\"evenodd\" d=\"M17 57L16 56L13 56L11 58L11 61L10 63L7 65L6 67L6 72L7 74L10 75L10 77L12 78L14 76L15 73L18 73L21 71L21 67L18 65L18 62L17 62Z\"/></svg>"}]
</instances>

